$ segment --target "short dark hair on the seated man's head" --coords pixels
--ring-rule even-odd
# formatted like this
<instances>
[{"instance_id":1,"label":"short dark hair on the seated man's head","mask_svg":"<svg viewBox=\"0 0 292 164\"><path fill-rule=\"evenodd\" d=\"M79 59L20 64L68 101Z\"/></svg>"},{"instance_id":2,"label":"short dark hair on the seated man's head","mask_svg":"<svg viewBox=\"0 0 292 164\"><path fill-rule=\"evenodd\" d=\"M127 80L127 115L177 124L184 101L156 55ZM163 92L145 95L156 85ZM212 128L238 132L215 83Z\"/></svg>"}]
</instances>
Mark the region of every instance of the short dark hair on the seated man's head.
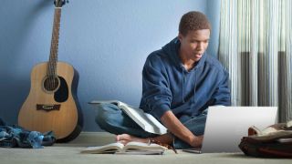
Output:
<instances>
[{"instance_id":1,"label":"short dark hair on the seated man's head","mask_svg":"<svg viewBox=\"0 0 292 164\"><path fill-rule=\"evenodd\" d=\"M211 31L211 25L206 15L197 11L192 11L182 16L179 32L183 36L186 36L189 31L200 29L209 29Z\"/></svg>"}]
</instances>

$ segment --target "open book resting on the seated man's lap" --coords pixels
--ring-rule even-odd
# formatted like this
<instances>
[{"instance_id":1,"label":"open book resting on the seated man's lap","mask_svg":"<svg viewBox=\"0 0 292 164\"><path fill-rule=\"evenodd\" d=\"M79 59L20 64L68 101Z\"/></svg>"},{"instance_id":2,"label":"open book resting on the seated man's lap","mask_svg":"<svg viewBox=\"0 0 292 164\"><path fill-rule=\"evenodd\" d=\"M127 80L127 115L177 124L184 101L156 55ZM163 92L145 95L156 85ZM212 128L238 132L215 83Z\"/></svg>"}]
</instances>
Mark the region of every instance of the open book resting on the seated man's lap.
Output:
<instances>
[{"instance_id":1,"label":"open book resting on the seated man's lap","mask_svg":"<svg viewBox=\"0 0 292 164\"><path fill-rule=\"evenodd\" d=\"M133 119L141 128L145 131L154 134L165 134L167 128L165 128L156 118L151 114L145 113L141 108L134 108L126 103L120 102L118 100L105 100L105 101L91 101L89 104L101 104L101 103L111 103L122 109L131 119Z\"/></svg>"}]
</instances>

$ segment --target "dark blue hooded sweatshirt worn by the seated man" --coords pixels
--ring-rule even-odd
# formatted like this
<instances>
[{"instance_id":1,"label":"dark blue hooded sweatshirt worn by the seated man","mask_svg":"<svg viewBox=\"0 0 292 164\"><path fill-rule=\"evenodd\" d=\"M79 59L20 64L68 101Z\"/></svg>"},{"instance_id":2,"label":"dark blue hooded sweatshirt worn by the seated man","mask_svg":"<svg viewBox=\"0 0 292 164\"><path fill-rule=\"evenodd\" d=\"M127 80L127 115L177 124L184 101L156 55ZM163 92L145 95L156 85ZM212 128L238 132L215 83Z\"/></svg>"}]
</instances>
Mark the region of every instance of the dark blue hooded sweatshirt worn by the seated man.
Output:
<instances>
[{"instance_id":1,"label":"dark blue hooded sweatshirt worn by the seated man","mask_svg":"<svg viewBox=\"0 0 292 164\"><path fill-rule=\"evenodd\" d=\"M140 108L161 120L168 110L181 118L199 115L208 106L230 106L228 73L220 62L204 53L187 71L179 56L180 45L176 37L147 57Z\"/></svg>"}]
</instances>

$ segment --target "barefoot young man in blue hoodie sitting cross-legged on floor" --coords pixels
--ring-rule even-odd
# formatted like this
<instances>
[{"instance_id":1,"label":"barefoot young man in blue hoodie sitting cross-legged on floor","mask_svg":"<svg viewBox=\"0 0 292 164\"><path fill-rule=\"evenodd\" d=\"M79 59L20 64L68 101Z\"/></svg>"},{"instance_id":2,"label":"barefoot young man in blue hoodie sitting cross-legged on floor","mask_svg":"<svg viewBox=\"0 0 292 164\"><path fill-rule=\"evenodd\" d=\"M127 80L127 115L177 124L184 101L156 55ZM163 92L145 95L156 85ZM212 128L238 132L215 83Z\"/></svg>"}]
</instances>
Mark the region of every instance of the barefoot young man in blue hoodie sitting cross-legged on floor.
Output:
<instances>
[{"instance_id":1,"label":"barefoot young man in blue hoodie sitting cross-legged on floor","mask_svg":"<svg viewBox=\"0 0 292 164\"><path fill-rule=\"evenodd\" d=\"M141 105L162 122L169 133L157 136L145 132L119 108L99 105L100 128L117 134L117 141L150 139L172 144L175 149L201 147L207 108L230 105L228 73L220 62L208 56L211 25L200 12L183 15L179 35L148 56L142 72Z\"/></svg>"}]
</instances>

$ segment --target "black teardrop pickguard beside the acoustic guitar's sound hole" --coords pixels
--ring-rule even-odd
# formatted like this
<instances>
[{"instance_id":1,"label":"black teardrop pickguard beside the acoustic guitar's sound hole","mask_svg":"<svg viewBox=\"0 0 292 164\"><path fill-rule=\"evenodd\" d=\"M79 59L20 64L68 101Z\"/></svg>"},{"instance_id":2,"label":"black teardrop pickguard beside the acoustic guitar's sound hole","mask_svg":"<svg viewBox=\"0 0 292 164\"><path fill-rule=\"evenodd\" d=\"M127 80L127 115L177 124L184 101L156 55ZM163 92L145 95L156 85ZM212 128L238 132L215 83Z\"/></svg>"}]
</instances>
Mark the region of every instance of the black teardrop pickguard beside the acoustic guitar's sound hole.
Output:
<instances>
[{"instance_id":1,"label":"black teardrop pickguard beside the acoustic guitar's sound hole","mask_svg":"<svg viewBox=\"0 0 292 164\"><path fill-rule=\"evenodd\" d=\"M56 102L65 102L68 99L68 85L66 80L63 77L58 77L60 79L60 86L57 88L57 91L54 93L54 98Z\"/></svg>"}]
</instances>

